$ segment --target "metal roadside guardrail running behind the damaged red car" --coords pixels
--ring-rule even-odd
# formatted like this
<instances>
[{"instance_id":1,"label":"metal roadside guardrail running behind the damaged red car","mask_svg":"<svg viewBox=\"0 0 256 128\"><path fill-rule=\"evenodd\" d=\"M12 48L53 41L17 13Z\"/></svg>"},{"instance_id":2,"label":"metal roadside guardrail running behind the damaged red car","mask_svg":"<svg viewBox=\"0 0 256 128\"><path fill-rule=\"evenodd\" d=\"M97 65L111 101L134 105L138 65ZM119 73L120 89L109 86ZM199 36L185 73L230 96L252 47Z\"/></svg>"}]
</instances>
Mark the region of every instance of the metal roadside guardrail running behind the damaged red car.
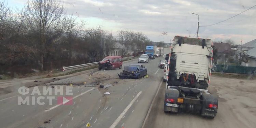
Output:
<instances>
[{"instance_id":1,"label":"metal roadside guardrail running behind the damaged red car","mask_svg":"<svg viewBox=\"0 0 256 128\"><path fill-rule=\"evenodd\" d=\"M131 59L131 58L134 58L134 56L124 57L122 59L126 60L126 59ZM62 71L66 71L66 70L71 70L72 71L72 70L84 69L85 67L98 65L99 62L93 62L93 63L86 63L86 64L82 64L82 65L74 65L74 66L69 66L69 67L63 67Z\"/></svg>"}]
</instances>

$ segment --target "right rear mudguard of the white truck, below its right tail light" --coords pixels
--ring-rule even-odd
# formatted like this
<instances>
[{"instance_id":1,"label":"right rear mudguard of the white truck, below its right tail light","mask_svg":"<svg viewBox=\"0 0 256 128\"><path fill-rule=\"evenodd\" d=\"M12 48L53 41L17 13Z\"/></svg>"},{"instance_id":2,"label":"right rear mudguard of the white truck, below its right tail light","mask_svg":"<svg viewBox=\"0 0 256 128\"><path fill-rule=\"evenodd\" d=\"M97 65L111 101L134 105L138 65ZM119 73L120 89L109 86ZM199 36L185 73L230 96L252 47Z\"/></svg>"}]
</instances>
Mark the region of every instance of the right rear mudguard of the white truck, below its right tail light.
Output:
<instances>
[{"instance_id":1,"label":"right rear mudguard of the white truck, below its right tail light","mask_svg":"<svg viewBox=\"0 0 256 128\"><path fill-rule=\"evenodd\" d=\"M218 110L218 98L210 93L202 94L201 116L214 118Z\"/></svg>"}]
</instances>

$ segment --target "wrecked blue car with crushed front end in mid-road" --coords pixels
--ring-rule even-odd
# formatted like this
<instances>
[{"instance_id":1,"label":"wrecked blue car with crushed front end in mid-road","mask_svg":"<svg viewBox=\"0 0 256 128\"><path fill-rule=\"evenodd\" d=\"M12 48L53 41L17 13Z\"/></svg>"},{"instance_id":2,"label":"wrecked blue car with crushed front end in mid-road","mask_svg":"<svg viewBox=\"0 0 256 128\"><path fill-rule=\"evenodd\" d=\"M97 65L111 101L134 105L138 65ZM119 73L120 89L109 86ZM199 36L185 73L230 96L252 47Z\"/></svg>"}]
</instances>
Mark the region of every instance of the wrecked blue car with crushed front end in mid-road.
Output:
<instances>
[{"instance_id":1,"label":"wrecked blue car with crushed front end in mid-road","mask_svg":"<svg viewBox=\"0 0 256 128\"><path fill-rule=\"evenodd\" d=\"M129 66L125 66L123 72L118 74L119 78L121 79L139 79L145 75L147 75L147 68L141 64L131 64Z\"/></svg>"}]
</instances>

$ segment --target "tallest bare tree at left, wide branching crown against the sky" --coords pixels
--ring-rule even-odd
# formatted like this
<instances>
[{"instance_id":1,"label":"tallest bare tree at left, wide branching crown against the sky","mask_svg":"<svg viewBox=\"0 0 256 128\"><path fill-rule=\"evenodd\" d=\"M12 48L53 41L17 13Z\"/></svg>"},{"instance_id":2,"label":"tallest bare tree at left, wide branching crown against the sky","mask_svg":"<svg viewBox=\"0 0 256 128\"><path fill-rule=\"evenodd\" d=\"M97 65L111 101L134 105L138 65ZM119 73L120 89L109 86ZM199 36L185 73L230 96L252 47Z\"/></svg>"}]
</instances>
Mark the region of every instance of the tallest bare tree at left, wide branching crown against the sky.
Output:
<instances>
[{"instance_id":1,"label":"tallest bare tree at left, wide branching crown against the sky","mask_svg":"<svg viewBox=\"0 0 256 128\"><path fill-rule=\"evenodd\" d=\"M38 33L38 50L43 70L44 58L52 45L52 42L47 43L47 38L51 37L51 32L58 31L59 23L66 12L57 0L31 0L27 3L26 9L30 29Z\"/></svg>"}]
</instances>

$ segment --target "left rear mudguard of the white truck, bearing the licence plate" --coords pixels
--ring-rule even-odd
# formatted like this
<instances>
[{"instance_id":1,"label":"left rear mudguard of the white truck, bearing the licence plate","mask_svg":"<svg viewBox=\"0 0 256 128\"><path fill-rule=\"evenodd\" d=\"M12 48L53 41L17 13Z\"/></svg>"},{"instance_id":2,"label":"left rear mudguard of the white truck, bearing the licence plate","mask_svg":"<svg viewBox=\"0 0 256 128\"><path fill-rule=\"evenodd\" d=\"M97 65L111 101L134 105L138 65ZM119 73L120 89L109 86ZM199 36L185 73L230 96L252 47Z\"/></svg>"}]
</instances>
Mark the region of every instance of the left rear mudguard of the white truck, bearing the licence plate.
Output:
<instances>
[{"instance_id":1,"label":"left rear mudguard of the white truck, bearing the licence plate","mask_svg":"<svg viewBox=\"0 0 256 128\"><path fill-rule=\"evenodd\" d=\"M177 104L177 98L180 92L177 89L166 89L165 91L165 104L163 110L165 113L172 112L177 113L179 110L179 104Z\"/></svg>"}]
</instances>

